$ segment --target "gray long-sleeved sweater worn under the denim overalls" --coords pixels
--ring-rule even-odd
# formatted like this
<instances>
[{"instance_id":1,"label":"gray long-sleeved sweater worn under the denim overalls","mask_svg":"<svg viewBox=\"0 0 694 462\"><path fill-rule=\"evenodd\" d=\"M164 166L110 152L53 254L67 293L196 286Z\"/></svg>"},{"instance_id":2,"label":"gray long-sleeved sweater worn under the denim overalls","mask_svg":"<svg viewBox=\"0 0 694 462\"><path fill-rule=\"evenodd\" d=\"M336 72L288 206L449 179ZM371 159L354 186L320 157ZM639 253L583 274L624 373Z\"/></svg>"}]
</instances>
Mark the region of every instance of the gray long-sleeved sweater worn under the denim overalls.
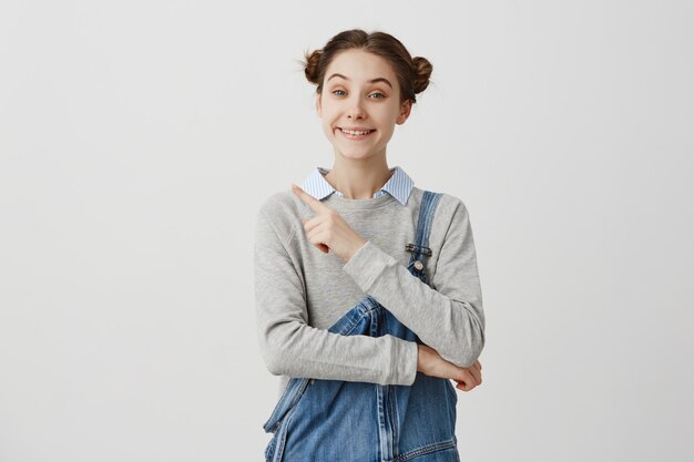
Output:
<instances>
[{"instance_id":1,"label":"gray long-sleeved sweater worn under the denim overalls","mask_svg":"<svg viewBox=\"0 0 694 462\"><path fill-rule=\"evenodd\" d=\"M346 264L306 237L300 218L315 213L290 189L262 204L255 228L256 327L265 363L279 380L290 377L380 384L412 384L417 343L390 335L340 336L327 329L367 294L420 340L460 367L470 367L484 346L484 314L468 211L443 194L436 211L427 260L433 288L414 277L406 245L415 243L423 191L406 205L384 194L323 203L367 243Z\"/></svg>"}]
</instances>

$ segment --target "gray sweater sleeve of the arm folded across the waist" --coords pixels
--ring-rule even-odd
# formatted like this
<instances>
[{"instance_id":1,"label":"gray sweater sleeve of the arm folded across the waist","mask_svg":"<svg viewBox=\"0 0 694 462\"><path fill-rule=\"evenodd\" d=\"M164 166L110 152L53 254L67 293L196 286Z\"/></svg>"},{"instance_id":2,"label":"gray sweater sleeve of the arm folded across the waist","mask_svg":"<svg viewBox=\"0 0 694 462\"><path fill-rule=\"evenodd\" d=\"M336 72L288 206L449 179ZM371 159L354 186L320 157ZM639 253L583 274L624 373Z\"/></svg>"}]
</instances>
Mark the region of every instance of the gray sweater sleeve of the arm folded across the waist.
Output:
<instances>
[{"instance_id":1,"label":"gray sweater sleeve of the arm folded across the waist","mask_svg":"<svg viewBox=\"0 0 694 462\"><path fill-rule=\"evenodd\" d=\"M416 342L390 335L343 336L309 326L302 277L300 266L261 208L254 245L256 324L271 373L379 384L415 382Z\"/></svg>"}]
</instances>

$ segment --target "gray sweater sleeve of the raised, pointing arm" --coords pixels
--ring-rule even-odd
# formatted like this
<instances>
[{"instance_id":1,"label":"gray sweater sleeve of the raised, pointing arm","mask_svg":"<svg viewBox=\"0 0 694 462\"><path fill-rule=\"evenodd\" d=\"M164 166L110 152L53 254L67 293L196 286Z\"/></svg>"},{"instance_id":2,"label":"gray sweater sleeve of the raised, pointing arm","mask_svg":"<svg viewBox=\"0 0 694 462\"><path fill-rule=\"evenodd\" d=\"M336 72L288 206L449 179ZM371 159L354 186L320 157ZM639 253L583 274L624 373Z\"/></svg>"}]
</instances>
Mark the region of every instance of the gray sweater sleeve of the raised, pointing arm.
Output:
<instances>
[{"instance_id":1,"label":"gray sweater sleeve of the raised, pointing arm","mask_svg":"<svg viewBox=\"0 0 694 462\"><path fill-rule=\"evenodd\" d=\"M447 361L468 368L484 346L484 314L472 228L458 199L429 287L371 240L343 269ZM427 268L428 276L431 268Z\"/></svg>"}]
</instances>

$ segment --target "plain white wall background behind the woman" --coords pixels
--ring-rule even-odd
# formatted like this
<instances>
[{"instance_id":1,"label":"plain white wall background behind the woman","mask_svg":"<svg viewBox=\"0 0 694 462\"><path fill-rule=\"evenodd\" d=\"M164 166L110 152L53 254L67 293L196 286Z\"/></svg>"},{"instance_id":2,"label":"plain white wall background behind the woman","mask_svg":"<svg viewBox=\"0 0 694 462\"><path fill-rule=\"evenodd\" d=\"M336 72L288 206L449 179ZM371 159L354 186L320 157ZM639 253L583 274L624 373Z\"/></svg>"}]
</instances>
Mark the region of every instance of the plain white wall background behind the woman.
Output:
<instances>
[{"instance_id":1,"label":"plain white wall background behind the woman","mask_svg":"<svg viewBox=\"0 0 694 462\"><path fill-rule=\"evenodd\" d=\"M330 167L297 60L433 64L389 145L467 204L470 461L690 461L690 1L0 4L0 461L261 461L253 219Z\"/></svg>"}]
</instances>

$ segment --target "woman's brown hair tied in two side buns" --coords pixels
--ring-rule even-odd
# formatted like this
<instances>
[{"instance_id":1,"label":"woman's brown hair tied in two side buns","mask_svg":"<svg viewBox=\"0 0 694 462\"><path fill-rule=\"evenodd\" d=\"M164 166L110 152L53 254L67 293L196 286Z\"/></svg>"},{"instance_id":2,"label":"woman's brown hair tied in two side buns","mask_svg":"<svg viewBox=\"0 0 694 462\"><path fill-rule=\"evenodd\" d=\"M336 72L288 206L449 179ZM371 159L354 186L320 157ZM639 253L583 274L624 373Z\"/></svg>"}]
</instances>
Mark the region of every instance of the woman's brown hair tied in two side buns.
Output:
<instances>
[{"instance_id":1,"label":"woman's brown hair tied in two side buns","mask_svg":"<svg viewBox=\"0 0 694 462\"><path fill-rule=\"evenodd\" d=\"M386 32L367 33L361 29L353 29L338 33L320 50L304 53L304 73L310 83L318 85L316 93L323 91L325 72L333 59L340 52L351 49L364 50L379 55L392 65L400 84L400 102L411 100L429 86L431 63L426 58L412 58L405 45Z\"/></svg>"}]
</instances>

